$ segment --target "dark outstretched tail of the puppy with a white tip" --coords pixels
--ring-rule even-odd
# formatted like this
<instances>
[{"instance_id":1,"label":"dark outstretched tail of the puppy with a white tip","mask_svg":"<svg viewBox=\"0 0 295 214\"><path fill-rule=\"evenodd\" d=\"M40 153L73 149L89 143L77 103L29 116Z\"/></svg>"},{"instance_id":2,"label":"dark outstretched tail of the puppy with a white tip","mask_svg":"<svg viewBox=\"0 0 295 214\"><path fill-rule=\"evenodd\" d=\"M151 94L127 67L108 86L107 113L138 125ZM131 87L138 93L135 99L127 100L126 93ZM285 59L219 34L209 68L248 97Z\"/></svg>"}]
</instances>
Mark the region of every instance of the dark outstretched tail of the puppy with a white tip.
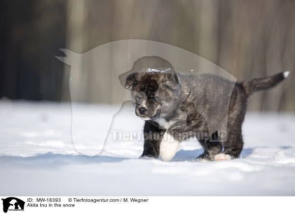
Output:
<instances>
[{"instance_id":1,"label":"dark outstretched tail of the puppy with a white tip","mask_svg":"<svg viewBox=\"0 0 295 214\"><path fill-rule=\"evenodd\" d=\"M246 96L248 97L256 91L266 90L276 86L278 83L285 80L288 77L289 73L289 71L285 71L279 74L275 74L271 77L246 80L242 82L237 82L237 84L243 88Z\"/></svg>"}]
</instances>

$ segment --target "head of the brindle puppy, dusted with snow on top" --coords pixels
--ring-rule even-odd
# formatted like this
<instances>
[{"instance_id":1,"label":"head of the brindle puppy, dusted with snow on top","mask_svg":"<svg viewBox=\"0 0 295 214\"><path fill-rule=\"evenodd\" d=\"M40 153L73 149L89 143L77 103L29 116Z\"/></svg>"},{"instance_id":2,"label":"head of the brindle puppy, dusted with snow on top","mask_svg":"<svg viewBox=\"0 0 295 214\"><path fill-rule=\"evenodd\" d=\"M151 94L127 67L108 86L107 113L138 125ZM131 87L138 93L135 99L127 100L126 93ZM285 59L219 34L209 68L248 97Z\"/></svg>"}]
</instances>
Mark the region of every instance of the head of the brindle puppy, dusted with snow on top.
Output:
<instances>
[{"instance_id":1,"label":"head of the brindle puppy, dusted with snow on top","mask_svg":"<svg viewBox=\"0 0 295 214\"><path fill-rule=\"evenodd\" d=\"M131 88L135 113L143 120L169 115L177 103L180 84L175 71L145 69L130 74L125 88Z\"/></svg>"}]
</instances>

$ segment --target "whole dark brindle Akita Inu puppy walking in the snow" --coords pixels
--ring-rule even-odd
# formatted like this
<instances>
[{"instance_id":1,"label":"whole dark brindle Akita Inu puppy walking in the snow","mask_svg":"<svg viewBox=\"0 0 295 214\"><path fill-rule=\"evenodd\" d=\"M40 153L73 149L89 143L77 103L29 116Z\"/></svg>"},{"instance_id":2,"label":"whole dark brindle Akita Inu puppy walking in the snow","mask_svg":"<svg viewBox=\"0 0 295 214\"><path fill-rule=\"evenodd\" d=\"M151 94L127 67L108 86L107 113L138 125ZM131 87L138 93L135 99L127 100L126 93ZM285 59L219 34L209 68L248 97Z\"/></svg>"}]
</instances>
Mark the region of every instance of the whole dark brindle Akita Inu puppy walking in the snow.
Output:
<instances>
[{"instance_id":1,"label":"whole dark brindle Akita Inu puppy walking in the snow","mask_svg":"<svg viewBox=\"0 0 295 214\"><path fill-rule=\"evenodd\" d=\"M180 142L193 132L205 136L198 137L205 150L199 159L238 158L243 148L241 127L248 97L275 86L287 76L288 72L283 72L235 83L213 75L176 73L172 68L144 69L130 74L125 88L131 88L136 115L146 120L144 133L160 136L145 139L141 157L160 155L162 160L171 160L177 143L164 142L165 133ZM221 133L225 140L218 140ZM173 151L164 154L170 149Z\"/></svg>"}]
</instances>

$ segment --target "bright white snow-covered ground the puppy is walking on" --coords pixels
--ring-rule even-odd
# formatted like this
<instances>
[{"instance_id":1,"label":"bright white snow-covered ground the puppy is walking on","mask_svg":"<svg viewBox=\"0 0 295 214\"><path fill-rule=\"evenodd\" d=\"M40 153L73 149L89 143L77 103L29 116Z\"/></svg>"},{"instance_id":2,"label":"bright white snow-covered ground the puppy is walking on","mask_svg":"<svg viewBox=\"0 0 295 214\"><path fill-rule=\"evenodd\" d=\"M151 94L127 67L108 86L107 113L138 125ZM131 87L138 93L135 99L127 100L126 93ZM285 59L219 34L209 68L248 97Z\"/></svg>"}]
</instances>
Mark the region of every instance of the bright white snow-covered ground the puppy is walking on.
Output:
<instances>
[{"instance_id":1,"label":"bright white snow-covered ground the puppy is walking on","mask_svg":"<svg viewBox=\"0 0 295 214\"><path fill-rule=\"evenodd\" d=\"M110 116L108 106L91 109L102 120ZM248 112L239 159L196 162L203 149L188 140L164 162L138 159L143 141L114 140L111 132L98 156L78 153L71 113L70 104L0 102L1 195L295 195L294 114ZM112 125L126 132L142 127L132 109Z\"/></svg>"}]
</instances>

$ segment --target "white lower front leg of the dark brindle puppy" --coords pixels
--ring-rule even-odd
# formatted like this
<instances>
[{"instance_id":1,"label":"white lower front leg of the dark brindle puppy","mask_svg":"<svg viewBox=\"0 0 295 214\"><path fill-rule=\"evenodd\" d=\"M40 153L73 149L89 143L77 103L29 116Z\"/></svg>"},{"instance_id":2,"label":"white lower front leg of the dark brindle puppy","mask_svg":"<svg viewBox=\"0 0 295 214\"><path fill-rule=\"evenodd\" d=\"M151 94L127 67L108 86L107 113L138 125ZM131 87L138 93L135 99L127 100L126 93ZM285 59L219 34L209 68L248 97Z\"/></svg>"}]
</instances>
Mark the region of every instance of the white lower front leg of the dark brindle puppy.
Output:
<instances>
[{"instance_id":1,"label":"white lower front leg of the dark brindle puppy","mask_svg":"<svg viewBox=\"0 0 295 214\"><path fill-rule=\"evenodd\" d=\"M160 156L163 161L169 161L173 159L175 154L178 151L179 141L175 140L167 132L163 135L161 144L160 144Z\"/></svg>"}]
</instances>

